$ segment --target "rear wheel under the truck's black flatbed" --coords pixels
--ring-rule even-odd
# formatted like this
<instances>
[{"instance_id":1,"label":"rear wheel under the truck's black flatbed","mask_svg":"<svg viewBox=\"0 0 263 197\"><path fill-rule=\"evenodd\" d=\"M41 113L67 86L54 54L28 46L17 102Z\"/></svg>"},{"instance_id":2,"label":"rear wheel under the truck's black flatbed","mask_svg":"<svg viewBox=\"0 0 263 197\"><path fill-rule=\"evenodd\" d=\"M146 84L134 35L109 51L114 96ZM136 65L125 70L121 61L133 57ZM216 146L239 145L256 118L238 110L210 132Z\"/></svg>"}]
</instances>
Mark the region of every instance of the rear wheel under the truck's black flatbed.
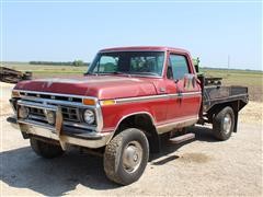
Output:
<instances>
[{"instance_id":1,"label":"rear wheel under the truck's black flatbed","mask_svg":"<svg viewBox=\"0 0 263 197\"><path fill-rule=\"evenodd\" d=\"M222 108L213 120L213 131L217 139L228 140L233 131L235 114L231 107Z\"/></svg>"}]
</instances>

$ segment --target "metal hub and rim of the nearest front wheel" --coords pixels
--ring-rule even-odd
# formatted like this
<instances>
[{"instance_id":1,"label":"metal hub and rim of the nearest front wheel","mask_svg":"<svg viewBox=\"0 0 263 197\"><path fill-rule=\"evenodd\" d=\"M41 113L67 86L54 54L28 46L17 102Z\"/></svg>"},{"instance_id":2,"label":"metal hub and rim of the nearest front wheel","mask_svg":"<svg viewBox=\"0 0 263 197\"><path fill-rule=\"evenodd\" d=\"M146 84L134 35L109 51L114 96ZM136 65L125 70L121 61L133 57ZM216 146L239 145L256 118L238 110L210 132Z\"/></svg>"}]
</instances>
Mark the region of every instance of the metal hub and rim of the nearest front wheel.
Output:
<instances>
[{"instance_id":1,"label":"metal hub and rim of the nearest front wheel","mask_svg":"<svg viewBox=\"0 0 263 197\"><path fill-rule=\"evenodd\" d=\"M139 142L130 141L123 152L123 166L128 173L135 172L142 160L142 148Z\"/></svg>"}]
</instances>

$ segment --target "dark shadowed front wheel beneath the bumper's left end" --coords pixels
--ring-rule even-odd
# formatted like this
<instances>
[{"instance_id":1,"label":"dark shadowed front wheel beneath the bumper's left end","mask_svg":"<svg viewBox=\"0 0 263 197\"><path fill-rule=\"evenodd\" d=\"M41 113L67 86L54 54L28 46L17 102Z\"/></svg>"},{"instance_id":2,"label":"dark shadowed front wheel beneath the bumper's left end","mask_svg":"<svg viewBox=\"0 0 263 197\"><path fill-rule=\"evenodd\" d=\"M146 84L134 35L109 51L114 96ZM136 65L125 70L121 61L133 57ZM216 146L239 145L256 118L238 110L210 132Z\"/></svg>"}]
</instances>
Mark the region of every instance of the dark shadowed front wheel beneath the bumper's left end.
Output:
<instances>
[{"instance_id":1,"label":"dark shadowed front wheel beneath the bumper's left end","mask_svg":"<svg viewBox=\"0 0 263 197\"><path fill-rule=\"evenodd\" d=\"M35 138L31 138L31 148L34 152L43 158L53 159L64 154L60 146L47 143Z\"/></svg>"}]
</instances>

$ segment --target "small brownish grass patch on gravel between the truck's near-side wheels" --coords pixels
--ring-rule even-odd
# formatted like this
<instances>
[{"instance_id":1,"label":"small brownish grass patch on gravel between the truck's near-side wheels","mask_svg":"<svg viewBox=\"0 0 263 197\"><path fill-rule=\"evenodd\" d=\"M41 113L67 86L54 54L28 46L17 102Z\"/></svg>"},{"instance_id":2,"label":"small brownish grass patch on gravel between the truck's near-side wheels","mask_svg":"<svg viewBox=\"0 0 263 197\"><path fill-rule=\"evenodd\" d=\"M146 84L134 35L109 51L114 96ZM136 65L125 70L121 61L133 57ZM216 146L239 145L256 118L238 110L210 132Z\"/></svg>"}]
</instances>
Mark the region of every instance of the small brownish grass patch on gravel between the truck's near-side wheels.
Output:
<instances>
[{"instance_id":1,"label":"small brownish grass patch on gravel between the truck's near-side wheels","mask_svg":"<svg viewBox=\"0 0 263 197\"><path fill-rule=\"evenodd\" d=\"M204 153L196 153L196 152L182 154L179 159L179 161L182 161L182 162L194 162L194 163L206 163L210 160L211 160L210 157Z\"/></svg>"}]
</instances>

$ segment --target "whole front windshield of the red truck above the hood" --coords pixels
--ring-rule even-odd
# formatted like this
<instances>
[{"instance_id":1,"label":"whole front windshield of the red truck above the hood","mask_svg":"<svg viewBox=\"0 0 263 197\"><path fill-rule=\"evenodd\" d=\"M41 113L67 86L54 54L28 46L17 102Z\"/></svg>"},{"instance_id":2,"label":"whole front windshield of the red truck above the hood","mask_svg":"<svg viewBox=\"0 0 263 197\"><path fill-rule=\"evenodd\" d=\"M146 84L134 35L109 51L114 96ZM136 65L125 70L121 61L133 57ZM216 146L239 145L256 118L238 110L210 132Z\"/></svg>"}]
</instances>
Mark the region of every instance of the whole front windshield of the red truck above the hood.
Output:
<instances>
[{"instance_id":1,"label":"whole front windshield of the red truck above the hood","mask_svg":"<svg viewBox=\"0 0 263 197\"><path fill-rule=\"evenodd\" d=\"M90 66L88 74L161 76L163 60L163 51L100 53Z\"/></svg>"}]
</instances>

